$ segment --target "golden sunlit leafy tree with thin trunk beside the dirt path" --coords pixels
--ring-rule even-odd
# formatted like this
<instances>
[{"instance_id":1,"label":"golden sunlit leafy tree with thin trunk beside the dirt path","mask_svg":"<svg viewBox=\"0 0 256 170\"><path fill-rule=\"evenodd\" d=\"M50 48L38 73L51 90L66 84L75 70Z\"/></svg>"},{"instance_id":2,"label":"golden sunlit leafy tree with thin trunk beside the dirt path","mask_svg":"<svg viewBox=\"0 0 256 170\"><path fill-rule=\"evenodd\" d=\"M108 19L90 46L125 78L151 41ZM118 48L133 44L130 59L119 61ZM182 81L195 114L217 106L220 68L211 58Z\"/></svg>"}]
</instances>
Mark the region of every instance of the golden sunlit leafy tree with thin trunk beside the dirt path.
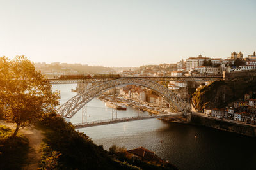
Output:
<instances>
[{"instance_id":1,"label":"golden sunlit leafy tree with thin trunk beside the dirt path","mask_svg":"<svg viewBox=\"0 0 256 170\"><path fill-rule=\"evenodd\" d=\"M26 57L0 57L0 108L3 118L17 125L13 138L19 127L35 124L44 113L54 113L58 99L59 92L52 92L49 81Z\"/></svg>"}]
</instances>

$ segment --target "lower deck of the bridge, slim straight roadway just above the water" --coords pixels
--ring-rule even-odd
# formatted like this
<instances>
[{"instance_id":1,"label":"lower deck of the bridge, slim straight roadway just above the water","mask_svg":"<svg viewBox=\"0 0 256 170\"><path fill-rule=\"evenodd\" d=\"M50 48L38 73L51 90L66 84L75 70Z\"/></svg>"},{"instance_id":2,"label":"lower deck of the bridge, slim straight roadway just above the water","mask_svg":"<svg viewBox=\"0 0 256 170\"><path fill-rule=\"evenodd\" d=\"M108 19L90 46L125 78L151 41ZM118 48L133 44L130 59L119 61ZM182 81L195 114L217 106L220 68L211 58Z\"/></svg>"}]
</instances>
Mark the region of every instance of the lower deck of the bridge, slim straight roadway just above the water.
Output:
<instances>
[{"instance_id":1,"label":"lower deck of the bridge, slim straight roadway just above the water","mask_svg":"<svg viewBox=\"0 0 256 170\"><path fill-rule=\"evenodd\" d=\"M171 117L182 117L181 112L177 113L167 113L167 114L161 114L161 115L152 115L152 116L146 116L146 117L124 117L124 118L115 118L115 119L108 119L108 120L97 120L93 122L83 122L79 124L73 124L75 129L84 128L84 127L93 127L98 125L108 125L108 124L116 124L120 122L130 122L134 120L145 120L149 118L171 118Z\"/></svg>"}]
</instances>

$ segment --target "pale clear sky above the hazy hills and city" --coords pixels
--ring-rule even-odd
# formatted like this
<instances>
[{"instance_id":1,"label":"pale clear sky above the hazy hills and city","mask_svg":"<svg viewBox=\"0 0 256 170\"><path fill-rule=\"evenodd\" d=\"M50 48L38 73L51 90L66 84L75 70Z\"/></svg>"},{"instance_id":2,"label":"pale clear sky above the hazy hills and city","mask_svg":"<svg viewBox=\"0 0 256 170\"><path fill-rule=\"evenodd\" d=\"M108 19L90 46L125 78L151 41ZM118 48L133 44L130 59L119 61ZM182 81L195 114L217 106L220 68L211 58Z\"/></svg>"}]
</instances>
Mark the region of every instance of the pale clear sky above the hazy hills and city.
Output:
<instances>
[{"instance_id":1,"label":"pale clear sky above the hazy hills and city","mask_svg":"<svg viewBox=\"0 0 256 170\"><path fill-rule=\"evenodd\" d=\"M256 50L256 1L0 0L0 56L108 67Z\"/></svg>"}]
</instances>

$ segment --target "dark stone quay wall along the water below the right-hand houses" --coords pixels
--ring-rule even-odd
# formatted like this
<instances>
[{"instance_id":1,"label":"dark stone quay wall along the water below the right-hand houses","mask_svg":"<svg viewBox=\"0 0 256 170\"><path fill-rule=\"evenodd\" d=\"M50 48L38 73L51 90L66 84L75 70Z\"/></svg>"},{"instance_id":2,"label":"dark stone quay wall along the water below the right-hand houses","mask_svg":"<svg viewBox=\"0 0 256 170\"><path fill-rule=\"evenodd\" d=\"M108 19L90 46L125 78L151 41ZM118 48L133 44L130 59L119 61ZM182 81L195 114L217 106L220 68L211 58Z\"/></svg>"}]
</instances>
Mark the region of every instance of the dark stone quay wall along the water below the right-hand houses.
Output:
<instances>
[{"instance_id":1,"label":"dark stone quay wall along the water below the right-hand houses","mask_svg":"<svg viewBox=\"0 0 256 170\"><path fill-rule=\"evenodd\" d=\"M256 127L249 124L237 124L237 122L228 122L226 120L203 117L196 114L191 114L190 124L203 125L206 127L219 129L221 131L234 132L237 134L243 134L244 136L256 137Z\"/></svg>"}]
</instances>

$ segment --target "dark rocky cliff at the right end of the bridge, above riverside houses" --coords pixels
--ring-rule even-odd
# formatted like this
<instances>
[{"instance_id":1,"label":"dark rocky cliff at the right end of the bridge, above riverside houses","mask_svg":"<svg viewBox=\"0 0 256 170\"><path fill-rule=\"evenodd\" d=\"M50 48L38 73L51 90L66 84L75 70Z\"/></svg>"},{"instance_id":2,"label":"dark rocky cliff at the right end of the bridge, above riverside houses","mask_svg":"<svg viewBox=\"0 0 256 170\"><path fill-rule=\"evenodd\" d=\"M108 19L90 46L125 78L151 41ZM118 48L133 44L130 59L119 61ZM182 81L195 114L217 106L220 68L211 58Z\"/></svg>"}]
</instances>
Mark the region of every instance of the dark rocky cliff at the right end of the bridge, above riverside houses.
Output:
<instances>
[{"instance_id":1,"label":"dark rocky cliff at the right end of the bridge, above riverside houses","mask_svg":"<svg viewBox=\"0 0 256 170\"><path fill-rule=\"evenodd\" d=\"M256 76L236 77L228 81L214 81L198 89L192 96L198 111L204 108L223 108L228 104L243 99L246 92L256 91Z\"/></svg>"}]
</instances>

